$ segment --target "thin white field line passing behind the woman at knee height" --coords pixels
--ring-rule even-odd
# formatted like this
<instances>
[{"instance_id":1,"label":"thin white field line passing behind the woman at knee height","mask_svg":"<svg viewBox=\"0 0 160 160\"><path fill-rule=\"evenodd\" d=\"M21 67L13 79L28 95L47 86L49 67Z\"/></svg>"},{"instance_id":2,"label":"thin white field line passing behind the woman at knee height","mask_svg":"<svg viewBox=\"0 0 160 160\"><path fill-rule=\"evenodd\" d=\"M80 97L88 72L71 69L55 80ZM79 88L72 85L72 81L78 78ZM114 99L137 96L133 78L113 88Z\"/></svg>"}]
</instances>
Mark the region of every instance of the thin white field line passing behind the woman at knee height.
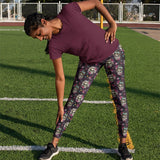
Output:
<instances>
[{"instance_id":1,"label":"thin white field line passing behind the woman at knee height","mask_svg":"<svg viewBox=\"0 0 160 160\"><path fill-rule=\"evenodd\" d=\"M0 101L54 101L56 102L56 98L0 98ZM65 98L63 101L67 101L67 98ZM112 101L88 101L84 100L83 103L89 103L89 104L108 104L113 103Z\"/></svg>"}]
</instances>

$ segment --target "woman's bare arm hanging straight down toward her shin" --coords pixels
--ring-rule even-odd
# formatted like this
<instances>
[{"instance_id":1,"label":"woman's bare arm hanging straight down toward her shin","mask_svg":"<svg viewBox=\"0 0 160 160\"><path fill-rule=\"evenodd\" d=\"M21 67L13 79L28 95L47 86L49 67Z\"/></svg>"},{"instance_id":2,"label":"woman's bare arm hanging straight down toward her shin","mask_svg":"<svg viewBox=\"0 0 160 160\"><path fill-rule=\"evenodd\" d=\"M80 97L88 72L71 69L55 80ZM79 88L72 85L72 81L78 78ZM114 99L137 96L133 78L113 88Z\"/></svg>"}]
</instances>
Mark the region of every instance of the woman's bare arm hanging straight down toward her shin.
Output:
<instances>
[{"instance_id":1,"label":"woman's bare arm hanging straight down toward her shin","mask_svg":"<svg viewBox=\"0 0 160 160\"><path fill-rule=\"evenodd\" d=\"M63 71L62 58L58 58L53 60L54 70L55 70L55 85L56 85L56 93L57 93L57 101L58 101L58 113L57 120L63 120L64 107L63 107L63 98L64 98L64 87L65 87L65 76Z\"/></svg>"}]
</instances>

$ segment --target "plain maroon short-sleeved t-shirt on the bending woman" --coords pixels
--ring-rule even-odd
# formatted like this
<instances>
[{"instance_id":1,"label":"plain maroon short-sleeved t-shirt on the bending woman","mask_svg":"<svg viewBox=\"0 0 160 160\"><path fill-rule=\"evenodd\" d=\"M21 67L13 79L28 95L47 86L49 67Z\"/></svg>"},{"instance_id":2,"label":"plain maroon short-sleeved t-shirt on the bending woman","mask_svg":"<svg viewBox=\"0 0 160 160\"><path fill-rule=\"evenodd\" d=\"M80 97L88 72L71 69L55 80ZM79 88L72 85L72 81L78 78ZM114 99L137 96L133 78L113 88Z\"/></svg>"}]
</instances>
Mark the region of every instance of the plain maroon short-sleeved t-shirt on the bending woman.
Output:
<instances>
[{"instance_id":1,"label":"plain maroon short-sleeved t-shirt on the bending woman","mask_svg":"<svg viewBox=\"0 0 160 160\"><path fill-rule=\"evenodd\" d=\"M111 56L119 45L117 39L112 44L106 43L105 31L83 16L76 2L64 6L57 17L63 26L49 41L51 59L70 53L85 63L101 62Z\"/></svg>"}]
</instances>

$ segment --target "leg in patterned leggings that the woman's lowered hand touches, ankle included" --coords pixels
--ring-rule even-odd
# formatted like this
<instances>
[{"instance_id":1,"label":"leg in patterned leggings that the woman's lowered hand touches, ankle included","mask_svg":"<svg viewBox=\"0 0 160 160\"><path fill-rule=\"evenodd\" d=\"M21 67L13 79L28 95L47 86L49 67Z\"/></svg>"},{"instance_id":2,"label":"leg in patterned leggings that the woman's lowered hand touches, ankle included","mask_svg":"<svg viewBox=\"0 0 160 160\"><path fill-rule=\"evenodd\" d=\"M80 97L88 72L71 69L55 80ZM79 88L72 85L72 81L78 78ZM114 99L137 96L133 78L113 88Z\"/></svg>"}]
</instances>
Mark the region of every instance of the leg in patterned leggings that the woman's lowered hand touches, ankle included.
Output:
<instances>
[{"instance_id":1,"label":"leg in patterned leggings that the woman's lowered hand touches, ankle included","mask_svg":"<svg viewBox=\"0 0 160 160\"><path fill-rule=\"evenodd\" d=\"M84 97L88 89L90 88L90 85L92 84L101 67L102 66L99 63L91 65L79 62L77 74L75 76L70 96L64 106L63 121L59 121L55 129L54 138L52 141L54 146L56 146L56 144L58 143L63 131L69 125L76 110L84 100Z\"/></svg>"}]
</instances>

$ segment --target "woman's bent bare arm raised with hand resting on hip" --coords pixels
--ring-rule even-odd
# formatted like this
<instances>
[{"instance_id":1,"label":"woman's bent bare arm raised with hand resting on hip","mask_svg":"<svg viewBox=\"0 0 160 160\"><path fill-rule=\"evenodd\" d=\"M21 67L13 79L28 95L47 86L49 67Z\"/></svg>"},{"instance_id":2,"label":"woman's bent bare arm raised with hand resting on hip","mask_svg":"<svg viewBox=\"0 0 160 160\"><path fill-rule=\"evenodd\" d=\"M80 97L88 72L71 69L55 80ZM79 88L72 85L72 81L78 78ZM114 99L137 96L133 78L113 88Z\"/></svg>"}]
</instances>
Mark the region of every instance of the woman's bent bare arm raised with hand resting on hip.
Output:
<instances>
[{"instance_id":1,"label":"woman's bent bare arm raised with hand resting on hip","mask_svg":"<svg viewBox=\"0 0 160 160\"><path fill-rule=\"evenodd\" d=\"M99 0L87 0L87 1L80 1L77 2L79 7L81 8L81 11L87 11L90 9L96 8L98 12L100 12L103 17L107 20L109 23L109 28L106 31L105 34L105 40L108 42L108 40L111 40L111 43L115 40L115 35L117 31L117 24L106 9L104 5Z\"/></svg>"}]
</instances>

